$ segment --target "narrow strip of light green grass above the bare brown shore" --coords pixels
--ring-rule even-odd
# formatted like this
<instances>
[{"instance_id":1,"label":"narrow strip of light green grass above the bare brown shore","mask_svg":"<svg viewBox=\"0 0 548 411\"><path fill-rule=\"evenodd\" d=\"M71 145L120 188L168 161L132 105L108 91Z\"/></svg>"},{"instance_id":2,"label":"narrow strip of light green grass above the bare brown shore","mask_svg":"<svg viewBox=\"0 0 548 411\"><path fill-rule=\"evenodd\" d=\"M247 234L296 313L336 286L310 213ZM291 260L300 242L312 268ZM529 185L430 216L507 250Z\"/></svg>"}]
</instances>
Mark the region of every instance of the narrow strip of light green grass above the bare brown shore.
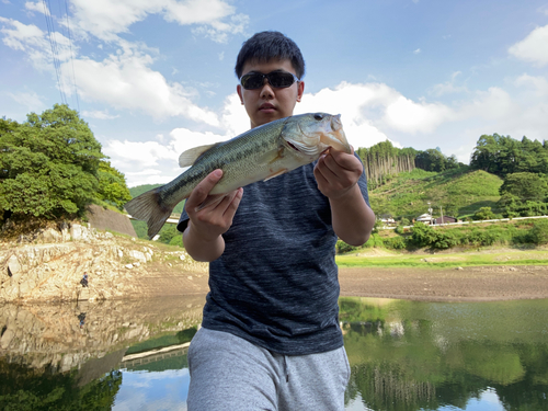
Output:
<instances>
[{"instance_id":1,"label":"narrow strip of light green grass above the bare brown shore","mask_svg":"<svg viewBox=\"0 0 548 411\"><path fill-rule=\"evenodd\" d=\"M446 269L483 265L548 265L548 250L484 250L436 254L338 255L340 267Z\"/></svg>"}]
</instances>

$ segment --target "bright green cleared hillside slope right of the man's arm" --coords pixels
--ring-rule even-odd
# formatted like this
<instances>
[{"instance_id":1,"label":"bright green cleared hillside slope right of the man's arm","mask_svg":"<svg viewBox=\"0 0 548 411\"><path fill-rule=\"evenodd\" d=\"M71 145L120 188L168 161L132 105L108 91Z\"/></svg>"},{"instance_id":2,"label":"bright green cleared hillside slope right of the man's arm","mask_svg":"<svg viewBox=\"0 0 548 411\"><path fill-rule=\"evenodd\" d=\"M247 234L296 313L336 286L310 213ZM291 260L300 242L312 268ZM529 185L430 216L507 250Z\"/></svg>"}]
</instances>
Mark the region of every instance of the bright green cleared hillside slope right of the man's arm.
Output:
<instances>
[{"instance_id":1,"label":"bright green cleared hillside slope right of the man's arm","mask_svg":"<svg viewBox=\"0 0 548 411\"><path fill-rule=\"evenodd\" d=\"M369 191L373 210L378 215L413 219L427 213L429 202L433 215L467 217L480 207L492 207L500 198L503 180L482 170L461 167L445 172L414 169L402 172L389 182Z\"/></svg>"}]
</instances>

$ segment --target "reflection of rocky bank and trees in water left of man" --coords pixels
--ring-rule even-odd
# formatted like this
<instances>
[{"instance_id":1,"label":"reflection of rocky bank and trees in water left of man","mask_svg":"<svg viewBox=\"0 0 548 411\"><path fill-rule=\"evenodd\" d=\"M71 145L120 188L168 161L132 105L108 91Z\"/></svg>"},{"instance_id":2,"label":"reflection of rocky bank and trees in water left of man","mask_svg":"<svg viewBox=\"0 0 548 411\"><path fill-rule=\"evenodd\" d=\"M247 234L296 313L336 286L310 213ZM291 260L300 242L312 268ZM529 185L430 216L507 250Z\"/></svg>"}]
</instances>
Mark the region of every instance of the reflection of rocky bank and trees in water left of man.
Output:
<instances>
[{"instance_id":1,"label":"reflection of rocky bank and trees in water left of man","mask_svg":"<svg viewBox=\"0 0 548 411\"><path fill-rule=\"evenodd\" d=\"M185 373L184 344L202 321L204 301L190 297L2 305L0 409L111 410L118 397L123 409L134 379L123 367L139 373L139 364L152 357L147 373L162 359ZM158 369L163 373L170 366ZM157 379L165 383L165 376ZM187 380L182 384L187 386ZM184 406L185 399L179 402Z\"/></svg>"}]
</instances>

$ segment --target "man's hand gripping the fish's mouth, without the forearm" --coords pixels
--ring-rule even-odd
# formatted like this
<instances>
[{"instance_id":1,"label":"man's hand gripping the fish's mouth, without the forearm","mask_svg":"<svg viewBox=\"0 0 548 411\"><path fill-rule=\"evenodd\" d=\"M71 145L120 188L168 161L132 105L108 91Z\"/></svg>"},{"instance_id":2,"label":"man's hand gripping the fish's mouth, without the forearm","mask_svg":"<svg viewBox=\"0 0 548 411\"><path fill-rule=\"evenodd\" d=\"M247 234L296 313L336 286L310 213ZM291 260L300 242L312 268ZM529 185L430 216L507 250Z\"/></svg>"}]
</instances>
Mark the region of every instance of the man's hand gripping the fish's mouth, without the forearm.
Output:
<instances>
[{"instance_id":1,"label":"man's hand gripping the fish's mouth, without the forearm","mask_svg":"<svg viewBox=\"0 0 548 411\"><path fill-rule=\"evenodd\" d=\"M318 190L330 199L344 197L356 185L364 165L352 153L330 149L322 155L313 169Z\"/></svg>"}]
</instances>

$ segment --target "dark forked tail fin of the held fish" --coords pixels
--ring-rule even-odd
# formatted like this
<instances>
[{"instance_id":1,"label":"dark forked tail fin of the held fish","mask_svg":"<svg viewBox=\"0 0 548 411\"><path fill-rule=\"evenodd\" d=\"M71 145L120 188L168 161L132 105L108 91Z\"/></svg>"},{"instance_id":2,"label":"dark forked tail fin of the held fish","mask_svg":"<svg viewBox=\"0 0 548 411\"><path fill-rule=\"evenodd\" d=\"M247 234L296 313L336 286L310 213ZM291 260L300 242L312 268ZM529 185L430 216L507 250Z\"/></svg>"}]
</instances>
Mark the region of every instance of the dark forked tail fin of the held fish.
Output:
<instances>
[{"instance_id":1,"label":"dark forked tail fin of the held fish","mask_svg":"<svg viewBox=\"0 0 548 411\"><path fill-rule=\"evenodd\" d=\"M149 240L160 231L174 208L162 204L159 189L142 193L124 206L132 217L147 222Z\"/></svg>"}]
</instances>

